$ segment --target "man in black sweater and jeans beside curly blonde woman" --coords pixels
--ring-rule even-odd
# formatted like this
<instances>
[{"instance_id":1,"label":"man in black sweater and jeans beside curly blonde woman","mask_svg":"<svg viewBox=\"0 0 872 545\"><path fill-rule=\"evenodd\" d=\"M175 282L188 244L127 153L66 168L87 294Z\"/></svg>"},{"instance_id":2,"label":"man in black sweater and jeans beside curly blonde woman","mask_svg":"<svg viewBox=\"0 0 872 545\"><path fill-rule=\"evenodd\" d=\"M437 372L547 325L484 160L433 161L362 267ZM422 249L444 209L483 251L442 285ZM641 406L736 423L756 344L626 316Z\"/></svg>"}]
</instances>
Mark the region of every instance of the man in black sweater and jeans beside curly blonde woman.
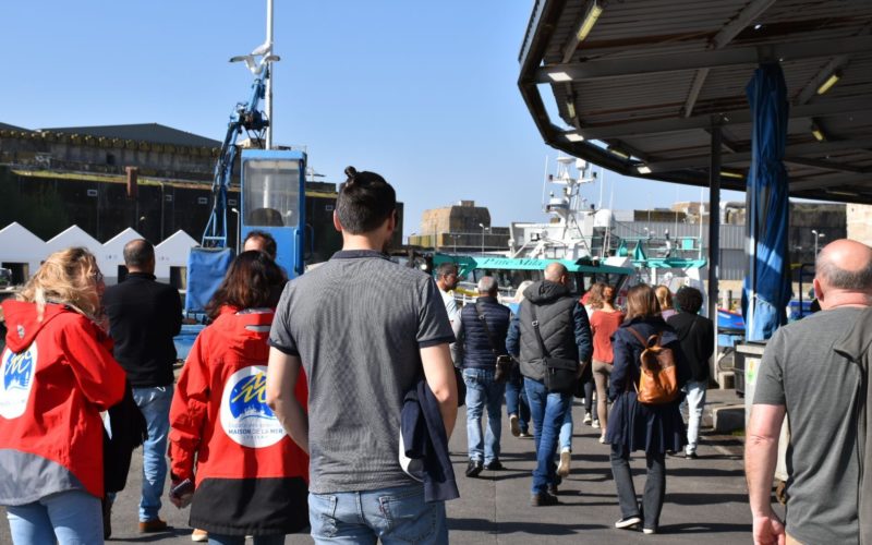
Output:
<instances>
[{"instance_id":1,"label":"man in black sweater and jeans beside curly blonde woman","mask_svg":"<svg viewBox=\"0 0 872 545\"><path fill-rule=\"evenodd\" d=\"M167 434L174 376L172 338L182 327L182 303L175 288L155 280L155 247L145 239L124 245L128 278L104 295L114 356L128 372L133 400L145 416L140 532L160 532L160 498L167 480Z\"/></svg>"}]
</instances>

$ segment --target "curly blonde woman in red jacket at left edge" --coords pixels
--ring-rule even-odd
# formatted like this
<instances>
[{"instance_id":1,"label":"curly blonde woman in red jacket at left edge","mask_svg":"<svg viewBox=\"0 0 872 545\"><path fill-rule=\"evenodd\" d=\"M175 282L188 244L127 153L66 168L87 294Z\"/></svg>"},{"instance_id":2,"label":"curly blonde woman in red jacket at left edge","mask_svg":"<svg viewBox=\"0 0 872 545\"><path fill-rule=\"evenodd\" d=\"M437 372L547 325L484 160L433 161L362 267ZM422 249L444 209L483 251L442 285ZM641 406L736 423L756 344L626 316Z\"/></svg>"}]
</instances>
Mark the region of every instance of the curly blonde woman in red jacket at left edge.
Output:
<instances>
[{"instance_id":1,"label":"curly blonde woman in red jacket at left edge","mask_svg":"<svg viewBox=\"0 0 872 545\"><path fill-rule=\"evenodd\" d=\"M95 324L102 289L94 255L73 247L3 303L0 505L15 544L104 543L100 411L125 376Z\"/></svg>"}]
</instances>

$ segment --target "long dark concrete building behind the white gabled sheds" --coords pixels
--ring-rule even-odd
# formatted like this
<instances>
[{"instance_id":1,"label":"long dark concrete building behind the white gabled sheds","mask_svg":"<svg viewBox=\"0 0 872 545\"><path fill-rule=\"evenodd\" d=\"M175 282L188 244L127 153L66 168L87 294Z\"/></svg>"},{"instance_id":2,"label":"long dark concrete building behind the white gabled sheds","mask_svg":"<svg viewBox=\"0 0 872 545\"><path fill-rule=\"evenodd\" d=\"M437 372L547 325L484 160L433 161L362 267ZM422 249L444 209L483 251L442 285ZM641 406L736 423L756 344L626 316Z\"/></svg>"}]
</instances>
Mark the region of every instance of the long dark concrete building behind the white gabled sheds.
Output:
<instances>
[{"instance_id":1,"label":"long dark concrete building behind the white gabled sheds","mask_svg":"<svg viewBox=\"0 0 872 545\"><path fill-rule=\"evenodd\" d=\"M98 245L126 229L155 244L181 231L195 244L211 213L220 145L157 123L43 130L0 123L0 230L15 225L13 231L51 241L76 226ZM336 184L306 182L307 264L324 262L341 247L332 226L336 197ZM228 190L229 245L238 243L233 209L239 205L237 175ZM396 246L401 244L401 203L398 220ZM178 250L181 259L186 259L185 247ZM26 281L35 266L4 251L0 247L0 266L12 270L13 283Z\"/></svg>"}]
</instances>

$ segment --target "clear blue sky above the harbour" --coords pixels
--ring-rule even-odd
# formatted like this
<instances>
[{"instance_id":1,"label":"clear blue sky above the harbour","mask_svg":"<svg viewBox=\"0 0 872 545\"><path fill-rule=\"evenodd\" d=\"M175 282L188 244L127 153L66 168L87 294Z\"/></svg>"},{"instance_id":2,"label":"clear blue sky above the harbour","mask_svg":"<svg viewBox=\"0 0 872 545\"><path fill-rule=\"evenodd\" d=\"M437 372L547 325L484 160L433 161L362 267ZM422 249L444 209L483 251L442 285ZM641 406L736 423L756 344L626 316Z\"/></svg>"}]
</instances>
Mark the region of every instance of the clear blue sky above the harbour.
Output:
<instances>
[{"instance_id":1,"label":"clear blue sky above the harbour","mask_svg":"<svg viewBox=\"0 0 872 545\"><path fill-rule=\"evenodd\" d=\"M264 40L265 0L32 0L3 7L0 122L28 129L156 122L221 140ZM421 213L459 199L493 223L535 221L557 153L517 87L530 0L276 0L275 142L307 146L340 182L382 173ZM607 173L605 204L668 206L700 190ZM598 187L588 190L596 202ZM724 198L742 198L727 194ZM707 198L707 192L706 192Z\"/></svg>"}]
</instances>

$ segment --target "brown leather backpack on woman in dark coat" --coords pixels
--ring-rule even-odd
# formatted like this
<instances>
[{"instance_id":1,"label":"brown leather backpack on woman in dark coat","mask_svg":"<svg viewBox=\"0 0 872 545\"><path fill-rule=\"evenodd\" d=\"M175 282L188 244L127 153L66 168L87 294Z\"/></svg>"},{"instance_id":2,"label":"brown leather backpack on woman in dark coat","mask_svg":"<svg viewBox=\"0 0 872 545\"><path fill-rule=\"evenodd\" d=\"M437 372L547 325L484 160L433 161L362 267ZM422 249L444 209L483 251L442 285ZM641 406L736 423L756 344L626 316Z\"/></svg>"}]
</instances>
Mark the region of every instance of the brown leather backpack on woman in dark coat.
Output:
<instances>
[{"instance_id":1,"label":"brown leather backpack on woman in dark coat","mask_svg":"<svg viewBox=\"0 0 872 545\"><path fill-rule=\"evenodd\" d=\"M635 397L640 403L664 404L678 398L678 365L673 349L661 344L663 334L652 335L647 341L632 327L627 329L642 343L640 360L639 384L635 387Z\"/></svg>"}]
</instances>

